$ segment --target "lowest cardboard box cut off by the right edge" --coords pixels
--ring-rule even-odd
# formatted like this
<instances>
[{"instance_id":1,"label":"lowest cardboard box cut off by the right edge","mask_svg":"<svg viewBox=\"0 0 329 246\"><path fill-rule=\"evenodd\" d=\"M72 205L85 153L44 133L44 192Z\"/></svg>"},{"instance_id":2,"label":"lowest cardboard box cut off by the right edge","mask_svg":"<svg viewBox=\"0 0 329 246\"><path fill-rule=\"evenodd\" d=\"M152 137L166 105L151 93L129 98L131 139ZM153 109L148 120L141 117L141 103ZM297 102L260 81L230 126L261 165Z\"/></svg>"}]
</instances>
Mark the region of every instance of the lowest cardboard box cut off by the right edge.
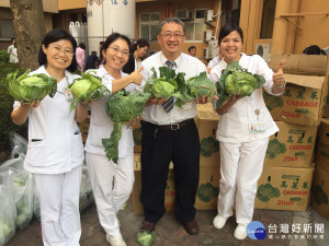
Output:
<instances>
[{"instance_id":1,"label":"lowest cardboard box cut off by the right edge","mask_svg":"<svg viewBox=\"0 0 329 246\"><path fill-rule=\"evenodd\" d=\"M329 220L329 173L317 167L314 175L311 206Z\"/></svg>"}]
</instances>

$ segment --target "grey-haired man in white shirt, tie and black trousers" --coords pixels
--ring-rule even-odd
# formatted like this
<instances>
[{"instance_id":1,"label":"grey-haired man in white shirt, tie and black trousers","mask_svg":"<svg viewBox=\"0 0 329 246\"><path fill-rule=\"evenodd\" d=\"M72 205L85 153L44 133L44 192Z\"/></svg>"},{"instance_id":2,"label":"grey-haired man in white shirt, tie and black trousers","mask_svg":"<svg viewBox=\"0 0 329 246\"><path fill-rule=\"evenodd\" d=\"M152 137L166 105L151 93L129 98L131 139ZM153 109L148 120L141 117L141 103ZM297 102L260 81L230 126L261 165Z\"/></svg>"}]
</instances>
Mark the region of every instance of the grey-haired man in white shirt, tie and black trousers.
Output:
<instances>
[{"instance_id":1,"label":"grey-haired man in white shirt, tie and black trousers","mask_svg":"<svg viewBox=\"0 0 329 246\"><path fill-rule=\"evenodd\" d=\"M206 67L197 58L182 52L184 40L185 26L180 20L166 19L159 25L158 42L161 51L143 61L141 86L152 75L152 67L158 77L159 67L167 66L175 70L175 73L184 72L185 80L206 71ZM183 108L173 106L169 112L171 106L163 105L170 99L164 104L163 101L149 99L141 114L141 202L145 214L141 229L146 232L154 231L166 212L163 192L169 163L172 161L177 188L174 215L189 234L195 235L198 233L198 225L194 220L194 202L200 169L200 140L193 120L196 103L190 101Z\"/></svg>"}]
</instances>

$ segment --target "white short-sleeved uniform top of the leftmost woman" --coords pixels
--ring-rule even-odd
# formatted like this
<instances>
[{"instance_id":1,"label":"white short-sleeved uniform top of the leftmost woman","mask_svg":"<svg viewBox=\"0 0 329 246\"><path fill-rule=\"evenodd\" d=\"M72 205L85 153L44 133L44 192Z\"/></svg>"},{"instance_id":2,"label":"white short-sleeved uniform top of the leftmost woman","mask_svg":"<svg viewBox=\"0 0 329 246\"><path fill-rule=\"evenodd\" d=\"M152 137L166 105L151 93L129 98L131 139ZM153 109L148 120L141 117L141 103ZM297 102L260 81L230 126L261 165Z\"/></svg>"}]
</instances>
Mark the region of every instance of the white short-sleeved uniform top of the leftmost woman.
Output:
<instances>
[{"instance_id":1,"label":"white short-sleeved uniform top of the leftmost woman","mask_svg":"<svg viewBox=\"0 0 329 246\"><path fill-rule=\"evenodd\" d=\"M29 75L45 73L44 66ZM70 112L70 102L64 90L79 75L65 71L66 77L57 83L57 92L52 98L42 99L29 115L29 147L24 167L35 174L67 173L83 162L83 144L80 129L75 120L76 110ZM14 109L20 107L14 103Z\"/></svg>"}]
</instances>

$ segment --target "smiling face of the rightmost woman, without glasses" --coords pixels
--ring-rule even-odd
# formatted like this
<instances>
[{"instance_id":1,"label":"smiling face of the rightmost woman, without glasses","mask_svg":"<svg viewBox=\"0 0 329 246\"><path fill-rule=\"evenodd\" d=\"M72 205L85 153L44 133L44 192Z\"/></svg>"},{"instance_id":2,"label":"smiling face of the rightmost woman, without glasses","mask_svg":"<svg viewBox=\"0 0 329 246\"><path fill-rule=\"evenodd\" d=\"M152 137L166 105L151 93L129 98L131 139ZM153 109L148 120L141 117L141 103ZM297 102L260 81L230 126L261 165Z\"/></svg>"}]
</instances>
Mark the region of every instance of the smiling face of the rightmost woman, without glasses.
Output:
<instances>
[{"instance_id":1,"label":"smiling face of the rightmost woman, without glasses","mask_svg":"<svg viewBox=\"0 0 329 246\"><path fill-rule=\"evenodd\" d=\"M227 63L230 61L239 61L241 48L242 39L237 31L230 32L219 44L220 54L224 56L224 60Z\"/></svg>"}]
</instances>

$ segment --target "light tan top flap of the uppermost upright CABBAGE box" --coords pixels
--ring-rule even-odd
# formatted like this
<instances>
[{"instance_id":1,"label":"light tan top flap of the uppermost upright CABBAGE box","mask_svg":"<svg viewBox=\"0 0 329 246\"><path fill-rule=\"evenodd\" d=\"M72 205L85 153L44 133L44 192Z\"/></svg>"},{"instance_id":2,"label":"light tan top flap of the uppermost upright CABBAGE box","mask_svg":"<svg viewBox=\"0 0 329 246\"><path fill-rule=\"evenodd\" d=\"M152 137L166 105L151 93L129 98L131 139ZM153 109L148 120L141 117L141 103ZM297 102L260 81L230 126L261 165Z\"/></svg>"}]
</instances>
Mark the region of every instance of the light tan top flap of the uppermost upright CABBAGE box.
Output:
<instances>
[{"instance_id":1,"label":"light tan top flap of the uppermost upright CABBAGE box","mask_svg":"<svg viewBox=\"0 0 329 246\"><path fill-rule=\"evenodd\" d=\"M321 90L325 82L325 77L316 75L295 75L295 74L284 74L284 79L287 83L297 84L305 87L311 87Z\"/></svg>"}]
</instances>

